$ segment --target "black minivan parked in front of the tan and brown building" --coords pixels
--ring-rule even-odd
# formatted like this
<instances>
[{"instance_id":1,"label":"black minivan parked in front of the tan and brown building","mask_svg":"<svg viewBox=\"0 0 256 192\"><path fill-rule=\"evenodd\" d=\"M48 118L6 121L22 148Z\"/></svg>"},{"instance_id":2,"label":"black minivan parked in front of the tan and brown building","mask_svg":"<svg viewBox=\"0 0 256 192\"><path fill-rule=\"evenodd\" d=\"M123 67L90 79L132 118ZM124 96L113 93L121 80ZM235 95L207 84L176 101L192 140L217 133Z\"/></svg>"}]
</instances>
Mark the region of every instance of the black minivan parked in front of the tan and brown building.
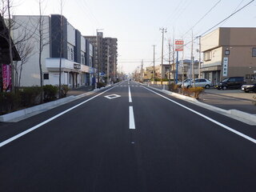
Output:
<instances>
[{"instance_id":1,"label":"black minivan parked in front of the tan and brown building","mask_svg":"<svg viewBox=\"0 0 256 192\"><path fill-rule=\"evenodd\" d=\"M222 82L219 82L217 89L240 89L243 84L245 84L243 77L230 77L223 79Z\"/></svg>"}]
</instances>

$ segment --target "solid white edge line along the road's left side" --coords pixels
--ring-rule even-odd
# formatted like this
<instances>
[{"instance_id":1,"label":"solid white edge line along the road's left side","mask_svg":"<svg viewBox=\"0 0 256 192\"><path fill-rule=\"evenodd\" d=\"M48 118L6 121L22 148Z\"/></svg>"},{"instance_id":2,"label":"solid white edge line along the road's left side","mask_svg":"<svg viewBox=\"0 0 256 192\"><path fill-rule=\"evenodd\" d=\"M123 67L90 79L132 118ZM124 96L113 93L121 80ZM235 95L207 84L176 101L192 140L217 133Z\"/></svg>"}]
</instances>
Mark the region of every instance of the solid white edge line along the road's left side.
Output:
<instances>
[{"instance_id":1,"label":"solid white edge line along the road's left side","mask_svg":"<svg viewBox=\"0 0 256 192\"><path fill-rule=\"evenodd\" d=\"M113 88L114 88L114 87L110 88L109 90L112 90ZM25 130L25 131L23 131L23 132L20 133L20 134L16 134L14 137L9 138L9 139L7 139L6 141L0 142L0 147L5 146L5 145L8 144L9 142L13 142L13 141L16 140L17 138L20 138L20 137L22 137L23 135L28 134L28 133L30 133L30 132L33 131L33 130L38 129L40 126L43 126L43 125L45 125L46 123L53 121L55 118L58 118L58 117L62 116L62 114L66 114L66 113L69 112L70 110L74 110L74 109L77 108L78 106L81 106L82 104L84 104L84 103L86 103L86 102L89 102L90 100L92 100L92 99L94 99L94 98L97 98L99 95L105 94L105 93L106 93L107 91L109 91L109 90L105 90L105 91L103 91L102 93L97 94L97 95L95 95L95 96L92 97L92 98L88 98L86 101L80 102L78 105L72 106L70 109L64 110L62 113L56 114L54 117L49 118L49 119L47 119L46 121L41 122L41 123L39 123L38 125L33 126L33 127L31 127L30 129Z\"/></svg>"}]
</instances>

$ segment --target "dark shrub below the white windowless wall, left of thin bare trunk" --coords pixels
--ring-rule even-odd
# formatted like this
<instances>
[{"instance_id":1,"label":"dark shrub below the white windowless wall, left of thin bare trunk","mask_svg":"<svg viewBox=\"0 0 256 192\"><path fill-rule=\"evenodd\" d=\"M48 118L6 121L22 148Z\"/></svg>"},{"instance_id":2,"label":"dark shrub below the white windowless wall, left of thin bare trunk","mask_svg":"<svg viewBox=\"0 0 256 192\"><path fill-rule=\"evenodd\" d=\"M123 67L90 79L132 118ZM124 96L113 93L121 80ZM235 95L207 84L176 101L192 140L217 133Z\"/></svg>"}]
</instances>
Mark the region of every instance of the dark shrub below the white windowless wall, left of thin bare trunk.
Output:
<instances>
[{"instance_id":1,"label":"dark shrub below the white windowless wall, left of thin bare trunk","mask_svg":"<svg viewBox=\"0 0 256 192\"><path fill-rule=\"evenodd\" d=\"M40 102L42 88L39 86L25 87L20 92L22 106L34 106Z\"/></svg>"}]
</instances>

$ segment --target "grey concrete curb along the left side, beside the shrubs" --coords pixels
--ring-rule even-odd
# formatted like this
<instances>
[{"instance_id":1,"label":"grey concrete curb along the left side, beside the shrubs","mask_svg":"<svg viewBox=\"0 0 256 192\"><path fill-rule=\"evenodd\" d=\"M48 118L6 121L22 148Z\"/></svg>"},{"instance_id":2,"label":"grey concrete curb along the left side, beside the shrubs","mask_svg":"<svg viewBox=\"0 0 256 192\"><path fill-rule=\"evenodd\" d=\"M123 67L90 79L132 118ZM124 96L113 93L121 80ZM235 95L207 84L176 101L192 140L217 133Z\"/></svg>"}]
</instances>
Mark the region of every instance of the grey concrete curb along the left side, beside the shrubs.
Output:
<instances>
[{"instance_id":1,"label":"grey concrete curb along the left side, beside the shrubs","mask_svg":"<svg viewBox=\"0 0 256 192\"><path fill-rule=\"evenodd\" d=\"M114 84L114 85L117 85L117 84ZM110 85L110 86L114 86L114 85ZM46 103L43 103L43 104L38 105L38 106L32 106L32 107L26 108L24 110L17 110L17 111L14 111L14 112L10 113L10 114L4 114L4 115L0 116L0 122L18 122L22 119L30 118L30 117L32 117L36 114L40 114L40 113L45 112L47 110L51 110L51 109L53 109L57 106L62 106L64 104L68 103L68 102L73 102L73 101L75 101L79 98L83 98L83 97L86 97L90 94L94 94L95 92L98 92L98 91L101 91L101 90L106 90L110 86L105 86L105 87L102 87L101 89L95 89L95 90L89 91L89 92L84 93L84 94L79 94L77 96L71 95L67 98L61 98L61 99L58 99L58 100L53 101L53 102L46 102Z\"/></svg>"}]
</instances>

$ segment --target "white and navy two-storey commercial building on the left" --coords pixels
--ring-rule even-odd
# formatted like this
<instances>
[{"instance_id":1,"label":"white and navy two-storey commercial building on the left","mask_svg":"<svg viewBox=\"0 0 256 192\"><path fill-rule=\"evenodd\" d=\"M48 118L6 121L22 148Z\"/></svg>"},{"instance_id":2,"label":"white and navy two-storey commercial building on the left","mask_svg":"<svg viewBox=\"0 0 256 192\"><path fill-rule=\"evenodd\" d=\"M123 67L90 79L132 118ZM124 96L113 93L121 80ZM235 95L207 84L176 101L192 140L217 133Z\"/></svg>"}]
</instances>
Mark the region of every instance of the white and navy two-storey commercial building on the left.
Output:
<instances>
[{"instance_id":1,"label":"white and navy two-storey commercial building on the left","mask_svg":"<svg viewBox=\"0 0 256 192\"><path fill-rule=\"evenodd\" d=\"M23 66L21 86L40 85L39 18L40 16L13 16L15 25L18 26L17 30L13 31L14 38L26 30L26 33L32 35L27 41L34 46L33 56ZM61 17L59 14L42 16L42 21L42 43L45 45L41 60L43 84L58 85L61 61L62 84L71 88L92 85L95 69L93 46L90 42L86 41L80 31L71 26L64 16ZM60 50L62 50L61 57Z\"/></svg>"}]
</instances>

